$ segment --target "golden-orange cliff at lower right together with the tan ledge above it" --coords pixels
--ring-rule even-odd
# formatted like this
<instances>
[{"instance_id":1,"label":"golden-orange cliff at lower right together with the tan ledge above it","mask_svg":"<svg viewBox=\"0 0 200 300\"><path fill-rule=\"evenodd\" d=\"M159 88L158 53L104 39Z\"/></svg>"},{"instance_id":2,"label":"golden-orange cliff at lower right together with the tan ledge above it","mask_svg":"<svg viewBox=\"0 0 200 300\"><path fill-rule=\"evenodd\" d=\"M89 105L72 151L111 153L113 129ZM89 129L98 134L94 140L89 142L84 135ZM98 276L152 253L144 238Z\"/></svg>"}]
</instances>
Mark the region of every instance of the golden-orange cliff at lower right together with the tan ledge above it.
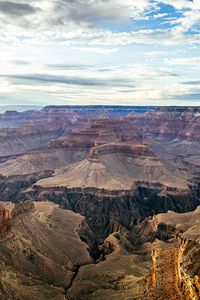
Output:
<instances>
[{"instance_id":1,"label":"golden-orange cliff at lower right together with the tan ledge above it","mask_svg":"<svg viewBox=\"0 0 200 300\"><path fill-rule=\"evenodd\" d=\"M151 239L157 238L151 244L153 266L152 274L146 278L148 299L199 299L199 212L199 207L191 213L168 212L146 223L146 237L148 232Z\"/></svg>"}]
</instances>

